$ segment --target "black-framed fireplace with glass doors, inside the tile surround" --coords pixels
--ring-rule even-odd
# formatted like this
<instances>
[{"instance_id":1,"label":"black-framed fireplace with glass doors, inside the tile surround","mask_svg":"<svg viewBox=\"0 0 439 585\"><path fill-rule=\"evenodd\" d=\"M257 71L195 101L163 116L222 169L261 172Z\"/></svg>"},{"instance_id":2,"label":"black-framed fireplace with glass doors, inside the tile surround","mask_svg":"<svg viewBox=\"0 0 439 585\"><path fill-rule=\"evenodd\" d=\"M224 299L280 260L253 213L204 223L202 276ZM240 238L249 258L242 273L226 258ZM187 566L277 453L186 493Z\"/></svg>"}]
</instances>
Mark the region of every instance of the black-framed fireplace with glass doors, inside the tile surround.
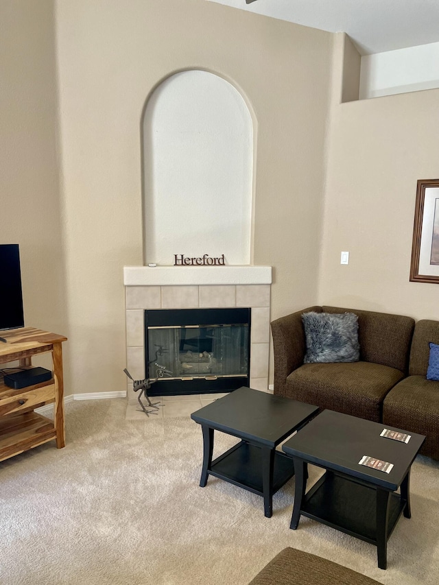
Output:
<instances>
[{"instance_id":1,"label":"black-framed fireplace with glass doors, inside the tile surround","mask_svg":"<svg viewBox=\"0 0 439 585\"><path fill-rule=\"evenodd\" d=\"M145 311L150 396L230 392L250 385L250 308Z\"/></svg>"}]
</instances>

